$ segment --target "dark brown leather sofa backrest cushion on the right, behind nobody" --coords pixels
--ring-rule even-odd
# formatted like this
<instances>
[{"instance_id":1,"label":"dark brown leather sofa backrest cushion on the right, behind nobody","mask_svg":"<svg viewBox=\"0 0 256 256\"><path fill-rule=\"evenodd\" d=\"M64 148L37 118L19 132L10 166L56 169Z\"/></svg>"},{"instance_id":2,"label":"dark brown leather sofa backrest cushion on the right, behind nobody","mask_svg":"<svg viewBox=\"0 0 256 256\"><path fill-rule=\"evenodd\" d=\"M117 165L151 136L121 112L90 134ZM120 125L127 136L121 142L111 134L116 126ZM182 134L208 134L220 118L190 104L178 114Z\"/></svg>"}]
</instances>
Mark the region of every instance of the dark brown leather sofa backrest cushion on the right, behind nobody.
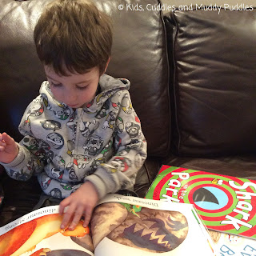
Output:
<instances>
[{"instance_id":1,"label":"dark brown leather sofa backrest cushion on the right, behind nobody","mask_svg":"<svg viewBox=\"0 0 256 256\"><path fill-rule=\"evenodd\" d=\"M173 150L256 151L256 9L167 14Z\"/></svg>"}]
</instances>

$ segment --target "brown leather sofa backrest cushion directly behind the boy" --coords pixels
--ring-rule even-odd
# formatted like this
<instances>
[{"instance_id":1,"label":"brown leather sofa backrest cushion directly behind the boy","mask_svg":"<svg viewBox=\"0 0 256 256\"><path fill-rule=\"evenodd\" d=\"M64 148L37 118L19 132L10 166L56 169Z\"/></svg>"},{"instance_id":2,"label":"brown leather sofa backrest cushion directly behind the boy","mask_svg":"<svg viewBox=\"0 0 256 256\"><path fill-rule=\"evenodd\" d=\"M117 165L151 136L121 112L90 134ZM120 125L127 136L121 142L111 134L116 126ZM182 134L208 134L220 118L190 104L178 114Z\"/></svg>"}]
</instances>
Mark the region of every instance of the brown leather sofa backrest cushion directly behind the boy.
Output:
<instances>
[{"instance_id":1,"label":"brown leather sofa backrest cushion directly behind the boy","mask_svg":"<svg viewBox=\"0 0 256 256\"><path fill-rule=\"evenodd\" d=\"M49 0L0 3L0 132L16 140L18 124L26 106L38 95L46 79L38 60L33 30L43 6ZM170 145L170 99L168 62L162 16L154 8L157 0L96 1L99 9L114 20L114 46L106 71L116 78L128 78L134 109L142 122L150 155L167 154ZM139 6L144 11L136 11ZM154 9L154 10L153 10Z\"/></svg>"}]
</instances>

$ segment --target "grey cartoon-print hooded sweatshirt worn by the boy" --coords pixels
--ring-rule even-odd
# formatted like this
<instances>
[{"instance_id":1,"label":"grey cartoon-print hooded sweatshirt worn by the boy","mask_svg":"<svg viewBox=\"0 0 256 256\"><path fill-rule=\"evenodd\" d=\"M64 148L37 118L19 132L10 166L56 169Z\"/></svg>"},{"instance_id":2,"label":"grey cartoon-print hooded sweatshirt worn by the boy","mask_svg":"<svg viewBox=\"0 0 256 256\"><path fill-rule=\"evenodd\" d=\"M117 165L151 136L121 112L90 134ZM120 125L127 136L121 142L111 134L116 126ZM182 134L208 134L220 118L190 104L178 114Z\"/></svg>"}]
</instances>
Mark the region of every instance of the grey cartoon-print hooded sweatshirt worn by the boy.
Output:
<instances>
[{"instance_id":1,"label":"grey cartoon-print hooded sweatshirt worn by the boy","mask_svg":"<svg viewBox=\"0 0 256 256\"><path fill-rule=\"evenodd\" d=\"M73 110L58 102L43 82L18 127L24 136L17 158L3 164L11 178L32 175L46 194L66 198L90 181L99 198L132 189L146 159L146 139L128 92L127 79L103 74L101 92Z\"/></svg>"}]
</instances>

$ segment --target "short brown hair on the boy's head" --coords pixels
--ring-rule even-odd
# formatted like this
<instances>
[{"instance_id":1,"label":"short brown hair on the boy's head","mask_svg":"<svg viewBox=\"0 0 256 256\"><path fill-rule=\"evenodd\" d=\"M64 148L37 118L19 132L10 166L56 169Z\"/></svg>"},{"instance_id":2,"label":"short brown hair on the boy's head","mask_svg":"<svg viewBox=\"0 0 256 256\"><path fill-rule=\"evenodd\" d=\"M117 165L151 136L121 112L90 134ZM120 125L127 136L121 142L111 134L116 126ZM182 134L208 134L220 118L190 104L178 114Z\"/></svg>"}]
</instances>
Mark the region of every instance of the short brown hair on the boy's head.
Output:
<instances>
[{"instance_id":1,"label":"short brown hair on the boy's head","mask_svg":"<svg viewBox=\"0 0 256 256\"><path fill-rule=\"evenodd\" d=\"M56 0L34 28L38 57L60 75L85 74L98 66L104 73L112 47L110 18L87 0Z\"/></svg>"}]
</instances>

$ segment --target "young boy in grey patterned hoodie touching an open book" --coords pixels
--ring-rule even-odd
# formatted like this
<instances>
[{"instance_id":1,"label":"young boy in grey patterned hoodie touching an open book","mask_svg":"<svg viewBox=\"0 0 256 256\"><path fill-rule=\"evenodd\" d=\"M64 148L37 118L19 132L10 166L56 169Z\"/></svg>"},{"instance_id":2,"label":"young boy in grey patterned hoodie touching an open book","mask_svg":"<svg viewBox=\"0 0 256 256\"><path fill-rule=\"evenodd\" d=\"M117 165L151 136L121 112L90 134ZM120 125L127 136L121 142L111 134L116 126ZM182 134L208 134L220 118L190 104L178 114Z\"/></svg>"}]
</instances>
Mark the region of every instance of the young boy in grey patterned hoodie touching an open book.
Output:
<instances>
[{"instance_id":1,"label":"young boy in grey patterned hoodie touching an open book","mask_svg":"<svg viewBox=\"0 0 256 256\"><path fill-rule=\"evenodd\" d=\"M38 19L34 42L47 80L26 108L18 144L0 134L0 162L11 178L38 176L45 194L65 198L61 228L84 226L98 199L132 189L146 140L126 79L106 74L110 19L86 0L57 0Z\"/></svg>"}]
</instances>

